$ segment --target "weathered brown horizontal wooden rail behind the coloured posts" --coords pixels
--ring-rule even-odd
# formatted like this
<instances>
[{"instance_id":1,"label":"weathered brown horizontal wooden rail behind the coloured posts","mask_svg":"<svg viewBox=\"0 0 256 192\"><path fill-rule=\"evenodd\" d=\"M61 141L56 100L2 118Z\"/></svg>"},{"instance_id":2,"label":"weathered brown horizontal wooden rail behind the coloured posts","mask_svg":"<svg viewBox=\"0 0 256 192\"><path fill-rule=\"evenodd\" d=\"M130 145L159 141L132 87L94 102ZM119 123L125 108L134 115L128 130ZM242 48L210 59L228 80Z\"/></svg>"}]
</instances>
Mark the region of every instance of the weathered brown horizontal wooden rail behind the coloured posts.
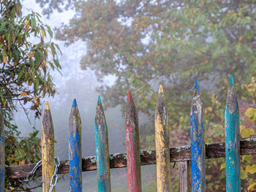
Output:
<instances>
[{"instance_id":1,"label":"weathered brown horizontal wooden rail behind the coloured posts","mask_svg":"<svg viewBox=\"0 0 256 192\"><path fill-rule=\"evenodd\" d=\"M251 155L256 154L256 138L241 140L240 154ZM225 142L206 144L206 158L222 158L225 157ZM189 161L190 160L190 145L170 148L170 161ZM141 150L140 164L150 165L156 164L155 150ZM33 169L35 164L26 164L20 166L9 166L6 168L6 174L9 179L18 179L26 177ZM115 153L110 155L110 168L121 168L127 166L126 153ZM96 170L95 156L85 157L82 160L83 172ZM58 174L69 172L69 161L61 161ZM39 168L35 176L41 176L42 169Z\"/></svg>"}]
</instances>

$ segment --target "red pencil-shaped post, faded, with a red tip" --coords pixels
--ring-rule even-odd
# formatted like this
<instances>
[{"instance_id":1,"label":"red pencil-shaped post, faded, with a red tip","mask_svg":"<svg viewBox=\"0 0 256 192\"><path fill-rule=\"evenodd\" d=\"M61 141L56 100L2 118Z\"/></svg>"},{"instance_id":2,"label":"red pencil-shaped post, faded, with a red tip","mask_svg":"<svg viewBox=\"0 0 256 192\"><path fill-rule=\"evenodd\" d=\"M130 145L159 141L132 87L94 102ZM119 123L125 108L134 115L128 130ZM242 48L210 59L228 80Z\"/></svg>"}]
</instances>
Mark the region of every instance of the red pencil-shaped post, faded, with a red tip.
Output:
<instances>
[{"instance_id":1,"label":"red pencil-shaped post, faded, with a red tip","mask_svg":"<svg viewBox=\"0 0 256 192\"><path fill-rule=\"evenodd\" d=\"M127 106L125 108L125 133L127 140L128 191L140 192L140 137L138 114L130 91L128 92Z\"/></svg>"}]
</instances>

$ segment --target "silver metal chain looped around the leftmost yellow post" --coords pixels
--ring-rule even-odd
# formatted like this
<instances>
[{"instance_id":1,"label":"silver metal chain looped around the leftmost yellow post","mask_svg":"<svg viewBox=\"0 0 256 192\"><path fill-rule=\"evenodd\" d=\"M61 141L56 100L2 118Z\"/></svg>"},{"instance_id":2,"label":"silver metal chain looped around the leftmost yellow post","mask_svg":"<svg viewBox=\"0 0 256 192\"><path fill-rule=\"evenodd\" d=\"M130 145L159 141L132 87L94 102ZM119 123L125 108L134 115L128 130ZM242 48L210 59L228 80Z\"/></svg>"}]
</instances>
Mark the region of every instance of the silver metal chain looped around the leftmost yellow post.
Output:
<instances>
[{"instance_id":1,"label":"silver metal chain looped around the leftmost yellow post","mask_svg":"<svg viewBox=\"0 0 256 192\"><path fill-rule=\"evenodd\" d=\"M53 176L51 177L50 179L50 190L49 192L52 192L53 191L53 188L56 186L57 184L57 181L58 181L58 169L59 169L59 165L60 165L60 162L59 162L59 157L56 156L55 157L55 162L54 162L54 165L55 165L55 169L54 169L54 173L53 173ZM26 177L26 179L24 180L19 180L20 183L25 183L25 182L30 182L33 178L34 178L34 174L35 172L37 172L37 169L42 166L42 160L38 161L37 164L34 166L34 168L32 169L31 172L29 172L28 176ZM29 179L29 177L31 177ZM54 183L53 183L54 182Z\"/></svg>"}]
</instances>

